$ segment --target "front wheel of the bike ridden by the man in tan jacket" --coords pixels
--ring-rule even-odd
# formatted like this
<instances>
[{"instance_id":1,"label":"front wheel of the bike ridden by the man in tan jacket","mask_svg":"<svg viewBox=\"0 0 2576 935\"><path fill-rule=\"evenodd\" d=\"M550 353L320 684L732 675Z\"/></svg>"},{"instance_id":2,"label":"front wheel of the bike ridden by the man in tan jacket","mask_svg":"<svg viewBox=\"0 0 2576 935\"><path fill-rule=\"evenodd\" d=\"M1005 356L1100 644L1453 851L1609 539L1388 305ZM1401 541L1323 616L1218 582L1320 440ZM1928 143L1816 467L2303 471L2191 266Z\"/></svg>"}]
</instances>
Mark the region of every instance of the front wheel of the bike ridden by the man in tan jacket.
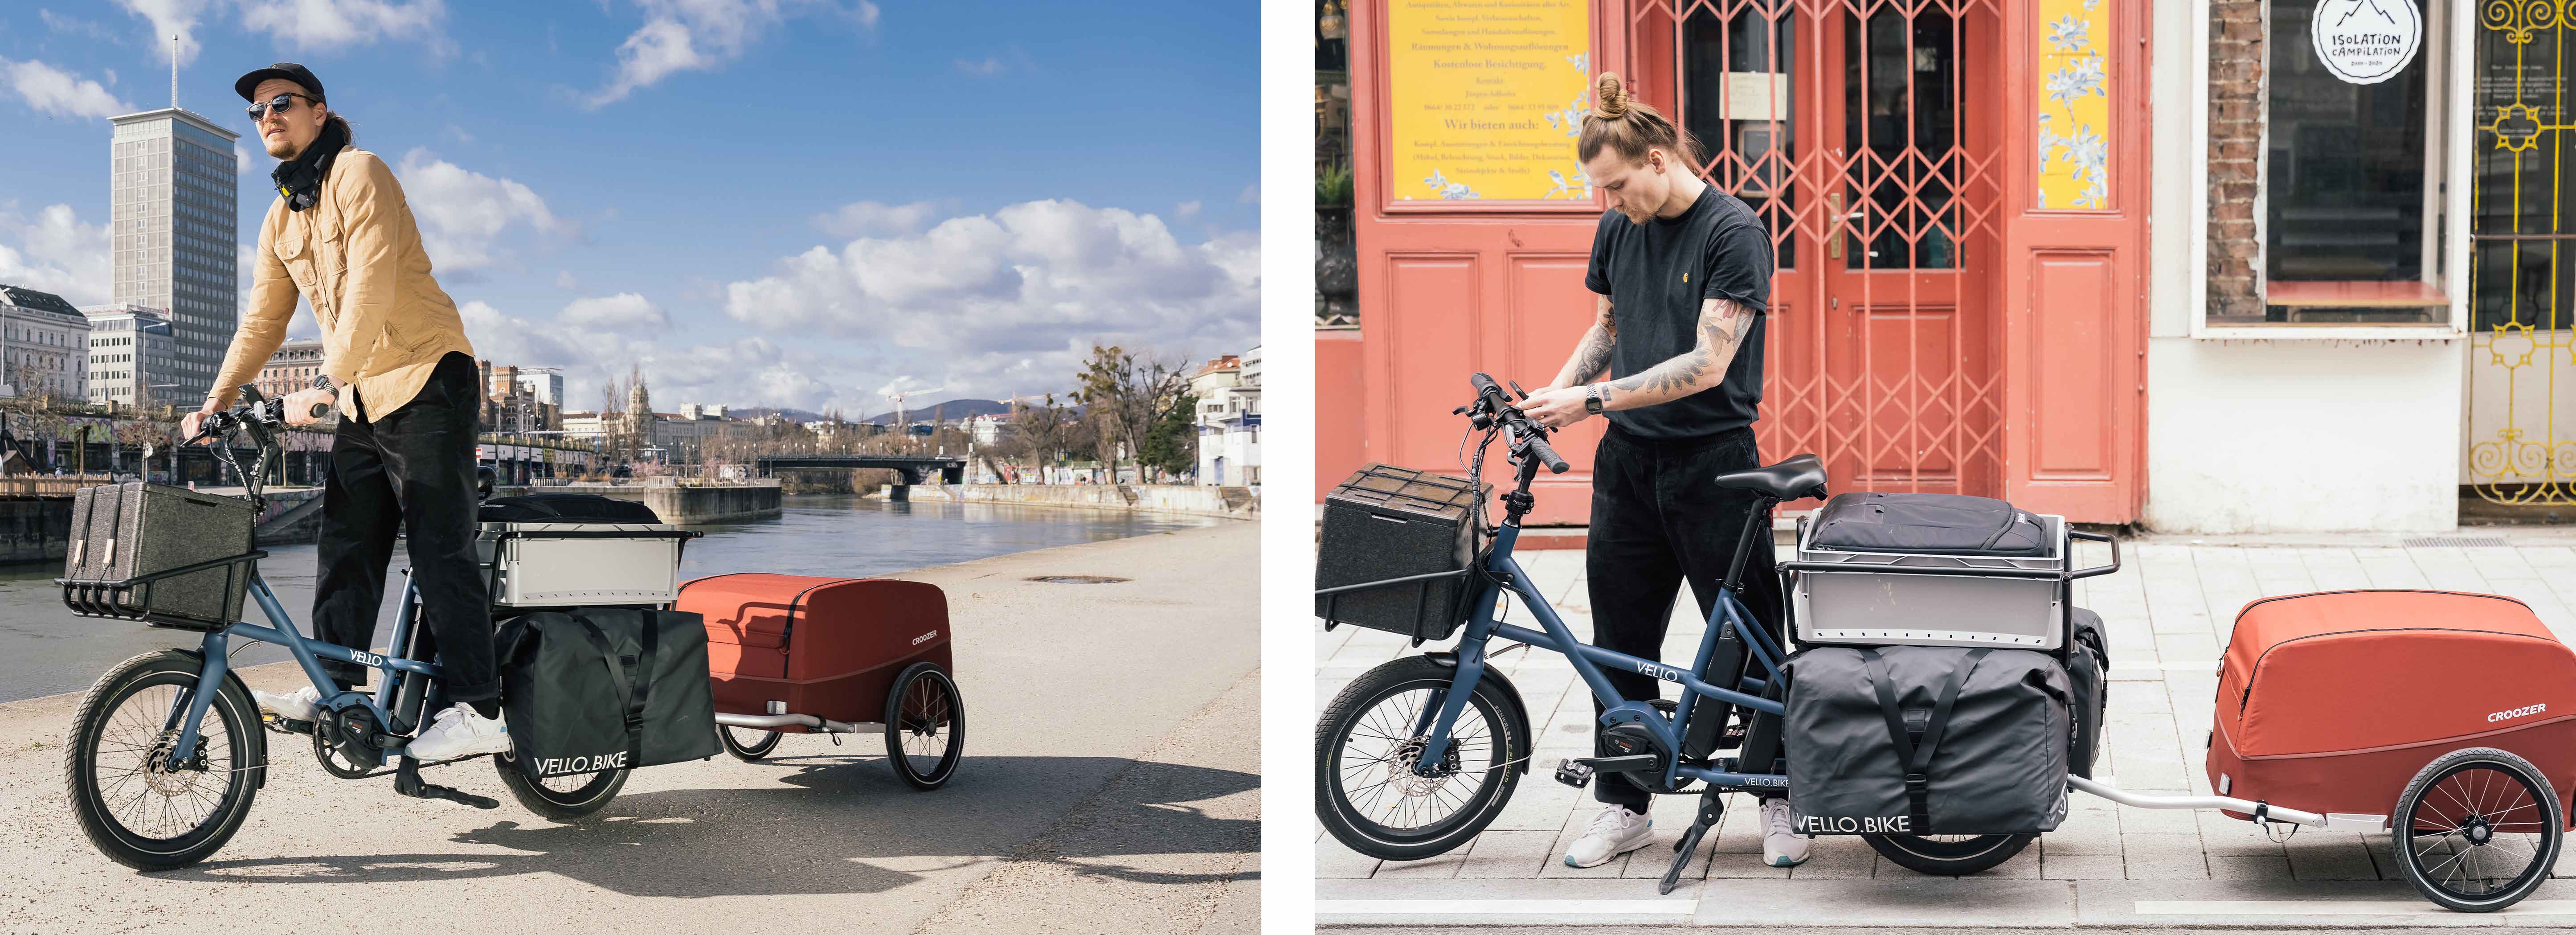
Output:
<instances>
[{"instance_id":1,"label":"front wheel of the bike ridden by the man in tan jacket","mask_svg":"<svg viewBox=\"0 0 2576 935\"><path fill-rule=\"evenodd\" d=\"M211 858L250 817L268 744L260 711L222 680L196 752L173 760L204 659L170 649L118 662L90 685L62 755L72 817L108 860L170 871Z\"/></svg>"}]
</instances>

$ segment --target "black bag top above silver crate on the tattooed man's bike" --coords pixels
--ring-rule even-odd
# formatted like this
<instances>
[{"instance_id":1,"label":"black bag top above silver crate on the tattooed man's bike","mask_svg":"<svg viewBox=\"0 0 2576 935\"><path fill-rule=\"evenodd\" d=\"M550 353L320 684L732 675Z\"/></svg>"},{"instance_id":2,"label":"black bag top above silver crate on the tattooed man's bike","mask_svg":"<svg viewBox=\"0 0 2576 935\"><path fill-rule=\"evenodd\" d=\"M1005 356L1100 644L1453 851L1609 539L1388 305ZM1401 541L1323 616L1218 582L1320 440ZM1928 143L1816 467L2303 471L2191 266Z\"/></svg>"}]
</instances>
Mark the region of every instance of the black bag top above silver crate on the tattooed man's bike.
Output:
<instances>
[{"instance_id":1,"label":"black bag top above silver crate on the tattooed man's bike","mask_svg":"<svg viewBox=\"0 0 2576 935\"><path fill-rule=\"evenodd\" d=\"M1924 554L2048 554L2048 523L1994 497L1834 495L1816 510L1816 549Z\"/></svg>"}]
</instances>

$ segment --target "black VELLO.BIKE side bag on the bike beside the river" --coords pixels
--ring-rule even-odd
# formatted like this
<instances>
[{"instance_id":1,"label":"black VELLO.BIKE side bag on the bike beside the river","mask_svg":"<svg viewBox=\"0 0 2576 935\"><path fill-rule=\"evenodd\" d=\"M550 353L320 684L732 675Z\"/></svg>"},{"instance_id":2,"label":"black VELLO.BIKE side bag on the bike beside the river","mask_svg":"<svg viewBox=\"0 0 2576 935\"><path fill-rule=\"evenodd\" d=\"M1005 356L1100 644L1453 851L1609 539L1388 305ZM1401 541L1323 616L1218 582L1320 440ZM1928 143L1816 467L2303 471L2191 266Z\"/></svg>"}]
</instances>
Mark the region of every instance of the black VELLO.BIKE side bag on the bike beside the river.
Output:
<instances>
[{"instance_id":1,"label":"black VELLO.BIKE side bag on the bike beside the river","mask_svg":"<svg viewBox=\"0 0 2576 935\"><path fill-rule=\"evenodd\" d=\"M531 778L706 760L706 621L680 610L533 610L497 636L502 708Z\"/></svg>"}]
</instances>

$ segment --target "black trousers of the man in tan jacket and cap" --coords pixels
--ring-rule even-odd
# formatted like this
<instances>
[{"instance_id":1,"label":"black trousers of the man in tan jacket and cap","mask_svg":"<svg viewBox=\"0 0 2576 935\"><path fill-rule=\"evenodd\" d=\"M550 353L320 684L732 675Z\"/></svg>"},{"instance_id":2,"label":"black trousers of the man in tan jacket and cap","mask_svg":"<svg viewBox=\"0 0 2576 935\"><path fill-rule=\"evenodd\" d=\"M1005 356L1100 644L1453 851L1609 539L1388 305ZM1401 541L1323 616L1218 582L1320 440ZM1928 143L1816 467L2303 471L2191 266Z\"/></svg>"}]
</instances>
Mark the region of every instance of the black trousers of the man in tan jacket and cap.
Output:
<instances>
[{"instance_id":1,"label":"black trousers of the man in tan jacket and cap","mask_svg":"<svg viewBox=\"0 0 2576 935\"><path fill-rule=\"evenodd\" d=\"M358 389L350 386L350 394ZM438 358L430 381L394 412L343 417L322 487L314 631L343 647L368 647L384 605L384 567L394 531L410 533L412 582L420 587L417 654L438 659L448 701L500 698L492 659L492 603L474 559L474 430L482 386L474 358ZM404 647L392 647L397 654ZM325 659L353 688L366 667Z\"/></svg>"}]
</instances>

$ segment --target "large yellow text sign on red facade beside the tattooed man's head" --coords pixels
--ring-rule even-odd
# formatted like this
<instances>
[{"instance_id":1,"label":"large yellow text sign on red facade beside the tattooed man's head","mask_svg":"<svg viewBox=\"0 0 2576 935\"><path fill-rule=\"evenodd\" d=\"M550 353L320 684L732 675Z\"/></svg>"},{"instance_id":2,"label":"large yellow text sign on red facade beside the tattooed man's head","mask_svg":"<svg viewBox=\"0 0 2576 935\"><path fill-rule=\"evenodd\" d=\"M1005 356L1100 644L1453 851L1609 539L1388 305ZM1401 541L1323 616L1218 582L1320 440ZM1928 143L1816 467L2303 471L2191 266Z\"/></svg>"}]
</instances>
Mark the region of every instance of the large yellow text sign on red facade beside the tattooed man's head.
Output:
<instances>
[{"instance_id":1,"label":"large yellow text sign on red facade beside the tattooed man's head","mask_svg":"<svg viewBox=\"0 0 2576 935\"><path fill-rule=\"evenodd\" d=\"M1388 0L1388 196L1592 198L1584 0Z\"/></svg>"}]
</instances>

